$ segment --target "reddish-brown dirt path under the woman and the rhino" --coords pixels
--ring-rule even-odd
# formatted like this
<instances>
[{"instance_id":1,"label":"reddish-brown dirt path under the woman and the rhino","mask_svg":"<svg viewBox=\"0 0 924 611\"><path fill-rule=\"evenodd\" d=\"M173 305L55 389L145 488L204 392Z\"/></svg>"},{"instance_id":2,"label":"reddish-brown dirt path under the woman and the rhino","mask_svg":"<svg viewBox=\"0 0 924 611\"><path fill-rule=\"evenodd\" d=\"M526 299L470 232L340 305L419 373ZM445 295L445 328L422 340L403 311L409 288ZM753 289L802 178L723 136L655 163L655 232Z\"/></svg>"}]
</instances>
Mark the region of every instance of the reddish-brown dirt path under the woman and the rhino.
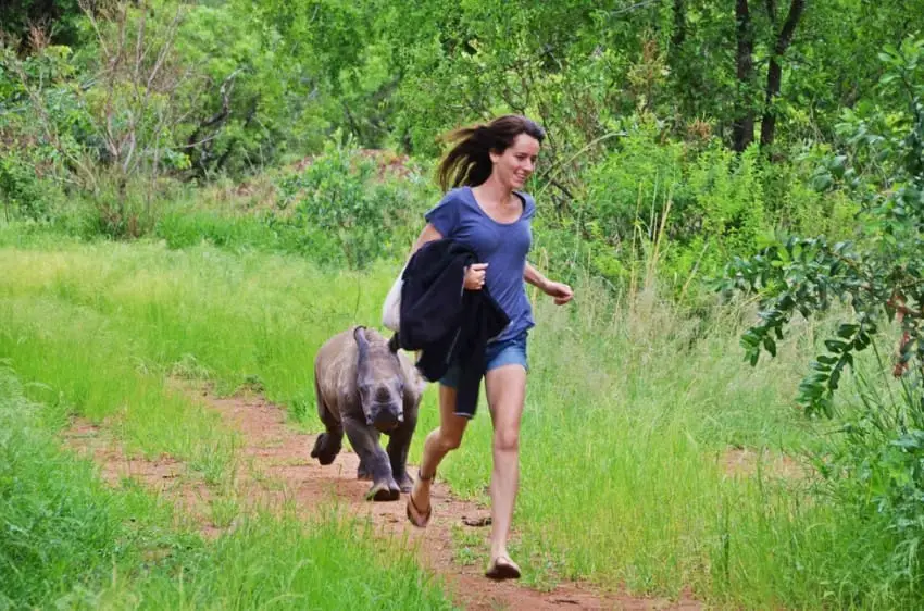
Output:
<instances>
[{"instance_id":1,"label":"reddish-brown dirt path under the woman and the rhino","mask_svg":"<svg viewBox=\"0 0 924 611\"><path fill-rule=\"evenodd\" d=\"M448 487L437 481L433 487L434 515L425 529L414 528L404 515L407 497L397 502L367 502L363 494L369 482L355 477L358 457L341 451L333 464L321 466L309 457L314 435L298 433L286 425L285 410L259 396L233 398L213 397L199 391L200 399L216 410L224 422L241 435L239 448L244 469L235 482L238 498L250 503L273 506L295 502L305 513L332 498L350 513L372 521L374 529L384 536L407 540L416 549L424 565L446 578L453 600L471 610L549 610L549 609L700 609L689 599L670 602L596 591L582 584L566 583L552 591L539 591L519 582L495 583L484 574L482 561L461 563L453 551L453 527L475 533L487 539L489 526L470 526L489 515L489 510L453 498ZM209 510L214 498L204 483L183 477L183 463L170 458L157 461L127 459L104 429L76 422L65 435L68 445L90 452L102 465L103 476L116 484L122 476L132 476L146 486L167 495L180 509L197 521L207 536L216 536L232 524L216 524ZM345 446L345 450L347 447Z\"/></svg>"}]
</instances>

